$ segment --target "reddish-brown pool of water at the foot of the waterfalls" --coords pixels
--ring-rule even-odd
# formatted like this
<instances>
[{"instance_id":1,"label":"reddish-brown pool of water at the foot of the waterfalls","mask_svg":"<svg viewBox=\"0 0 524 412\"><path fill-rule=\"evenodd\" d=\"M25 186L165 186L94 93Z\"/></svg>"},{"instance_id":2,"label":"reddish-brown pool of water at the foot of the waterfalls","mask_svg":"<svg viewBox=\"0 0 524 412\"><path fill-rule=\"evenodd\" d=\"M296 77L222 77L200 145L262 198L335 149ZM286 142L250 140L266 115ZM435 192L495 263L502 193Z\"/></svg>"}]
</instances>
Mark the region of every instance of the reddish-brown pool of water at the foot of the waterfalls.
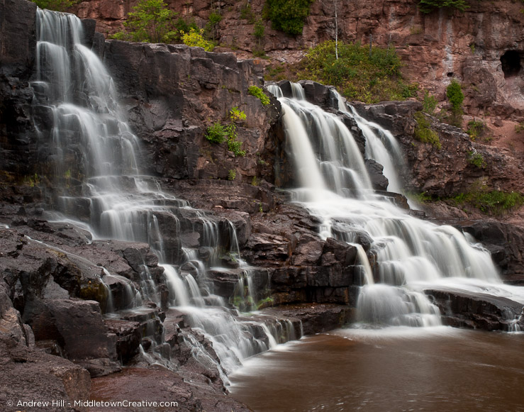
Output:
<instances>
[{"instance_id":1,"label":"reddish-brown pool of water at the foot of the waterfalls","mask_svg":"<svg viewBox=\"0 0 524 412\"><path fill-rule=\"evenodd\" d=\"M253 411L524 411L524 334L341 329L230 377Z\"/></svg>"}]
</instances>

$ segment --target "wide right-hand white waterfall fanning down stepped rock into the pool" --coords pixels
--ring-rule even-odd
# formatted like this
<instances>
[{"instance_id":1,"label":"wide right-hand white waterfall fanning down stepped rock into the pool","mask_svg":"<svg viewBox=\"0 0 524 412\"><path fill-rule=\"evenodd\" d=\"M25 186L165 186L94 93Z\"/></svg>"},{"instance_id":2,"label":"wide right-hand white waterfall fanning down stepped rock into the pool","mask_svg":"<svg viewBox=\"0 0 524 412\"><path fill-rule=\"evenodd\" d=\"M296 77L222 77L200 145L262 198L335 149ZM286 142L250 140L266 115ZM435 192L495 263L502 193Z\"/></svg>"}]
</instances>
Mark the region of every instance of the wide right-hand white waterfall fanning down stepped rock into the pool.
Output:
<instances>
[{"instance_id":1,"label":"wide right-hand white waterfall fanning down stepped rock into the pool","mask_svg":"<svg viewBox=\"0 0 524 412\"><path fill-rule=\"evenodd\" d=\"M323 221L322 238L354 243L362 232L372 238L369 253L377 261L373 274L369 262L362 264L367 255L360 249L358 254L367 279L357 304L362 322L440 325L438 308L423 293L430 285L489 291L496 296L511 296L524 304L522 288L502 284L489 252L481 245L469 242L451 226L413 218L374 195L362 155L354 142L347 141L352 140L350 130L335 115L303 99L282 97L277 85L269 85L268 89L280 96L284 111L284 129L301 184L293 191L295 201ZM392 136L357 116L355 111L347 111L345 102L340 95L337 97L342 114L355 118L367 138L367 155L386 163L386 177L398 185L398 178L391 173L400 162ZM394 189L401 191L401 187Z\"/></svg>"}]
</instances>

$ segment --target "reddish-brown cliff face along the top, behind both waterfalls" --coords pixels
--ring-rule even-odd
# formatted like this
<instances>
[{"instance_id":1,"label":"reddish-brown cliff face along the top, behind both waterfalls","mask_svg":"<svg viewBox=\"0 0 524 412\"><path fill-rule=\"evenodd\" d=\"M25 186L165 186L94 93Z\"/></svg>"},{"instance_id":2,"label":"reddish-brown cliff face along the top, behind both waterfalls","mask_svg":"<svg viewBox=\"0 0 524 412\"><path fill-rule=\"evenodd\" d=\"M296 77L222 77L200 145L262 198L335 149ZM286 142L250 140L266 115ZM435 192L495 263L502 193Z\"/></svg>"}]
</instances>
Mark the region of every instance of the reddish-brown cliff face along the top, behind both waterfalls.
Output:
<instances>
[{"instance_id":1,"label":"reddish-brown cliff face along the top, behind both waterfalls","mask_svg":"<svg viewBox=\"0 0 524 412\"><path fill-rule=\"evenodd\" d=\"M120 30L138 0L90 0L72 9L81 18L95 18L104 34ZM335 1L315 1L302 35L291 37L271 29L264 21L264 38L253 35L254 21L262 16L264 0L252 0L251 18L240 18L247 1L166 1L179 16L192 17L204 27L211 6L220 7L218 43L244 56L255 48L276 60L299 60L303 50L335 38ZM339 39L374 45L394 45L406 66L403 72L412 82L445 100L445 88L452 78L464 84L467 113L522 116L524 77L518 67L503 71L501 57L515 50L524 59L524 14L521 4L508 0L472 2L465 12L451 9L420 13L412 0L338 1ZM245 13L243 16L246 16ZM247 16L247 17L250 17ZM515 113L514 109L518 109Z\"/></svg>"}]
</instances>

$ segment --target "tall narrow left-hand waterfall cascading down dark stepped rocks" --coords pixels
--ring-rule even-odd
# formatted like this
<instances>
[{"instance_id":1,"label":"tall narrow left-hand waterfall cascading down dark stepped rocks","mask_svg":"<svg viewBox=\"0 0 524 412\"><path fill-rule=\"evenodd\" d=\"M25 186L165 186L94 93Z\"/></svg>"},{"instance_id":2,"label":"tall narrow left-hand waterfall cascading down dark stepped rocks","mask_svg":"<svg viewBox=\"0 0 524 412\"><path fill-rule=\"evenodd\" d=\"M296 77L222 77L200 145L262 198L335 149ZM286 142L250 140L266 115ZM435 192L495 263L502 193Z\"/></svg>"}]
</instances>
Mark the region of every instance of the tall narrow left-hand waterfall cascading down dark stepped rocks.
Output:
<instances>
[{"instance_id":1,"label":"tall narrow left-hand waterfall cascading down dark stepped rocks","mask_svg":"<svg viewBox=\"0 0 524 412\"><path fill-rule=\"evenodd\" d=\"M238 321L230 309L216 307L224 304L221 297L212 294L212 282L206 279L208 267L196 250L182 247L181 252L175 252L172 244L173 238L179 238L176 212L184 208L202 227L201 249L208 250L208 265L216 265L218 249L223 248L221 237L230 239L228 253L240 255L233 224L229 223L227 233L221 236L215 221L190 208L186 201L165 194L159 182L140 171L138 138L121 113L111 76L98 57L81 43L79 18L37 9L37 20L34 122L40 133L43 157L49 159L55 171L55 186L62 187L55 212L49 213L55 220L89 230L95 240L148 243L159 258L159 266L164 268L169 304L184 311L191 327L211 340L220 364L205 353L192 335L186 336L186 343L197 360L213 362L227 382L226 372L233 371L246 357L267 350L268 341L275 338L255 338L251 332L260 329L260 325ZM162 222L166 221L171 240L163 233L166 229L162 229ZM104 278L126 284L125 294L133 300L130 306L135 307L130 310L135 310L137 317L140 316L137 306L143 301L161 304L158 285L145 264L140 274L140 293L128 279L107 271ZM113 310L111 305L111 302L106 305L108 311ZM142 311L145 310L144 306ZM158 361L165 345L154 343L152 347L159 350L145 358ZM168 360L169 357L160 361L169 367Z\"/></svg>"}]
</instances>

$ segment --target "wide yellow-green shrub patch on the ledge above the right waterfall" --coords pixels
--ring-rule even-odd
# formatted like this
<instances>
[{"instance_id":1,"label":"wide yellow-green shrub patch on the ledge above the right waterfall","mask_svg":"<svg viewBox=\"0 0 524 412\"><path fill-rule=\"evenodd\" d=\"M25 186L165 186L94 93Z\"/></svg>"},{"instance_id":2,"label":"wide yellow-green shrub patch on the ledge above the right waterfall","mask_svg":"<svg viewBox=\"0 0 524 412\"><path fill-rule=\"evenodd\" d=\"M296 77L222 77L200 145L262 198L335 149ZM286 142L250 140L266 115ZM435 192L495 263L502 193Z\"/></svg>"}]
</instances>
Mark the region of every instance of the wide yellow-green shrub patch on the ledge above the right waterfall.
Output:
<instances>
[{"instance_id":1,"label":"wide yellow-green shrub patch on the ledge above the right waterfall","mask_svg":"<svg viewBox=\"0 0 524 412\"><path fill-rule=\"evenodd\" d=\"M401 77L401 61L394 48L373 47L360 43L325 41L310 49L299 64L296 79L311 79L336 86L347 99L377 103L404 100L414 95Z\"/></svg>"}]
</instances>

